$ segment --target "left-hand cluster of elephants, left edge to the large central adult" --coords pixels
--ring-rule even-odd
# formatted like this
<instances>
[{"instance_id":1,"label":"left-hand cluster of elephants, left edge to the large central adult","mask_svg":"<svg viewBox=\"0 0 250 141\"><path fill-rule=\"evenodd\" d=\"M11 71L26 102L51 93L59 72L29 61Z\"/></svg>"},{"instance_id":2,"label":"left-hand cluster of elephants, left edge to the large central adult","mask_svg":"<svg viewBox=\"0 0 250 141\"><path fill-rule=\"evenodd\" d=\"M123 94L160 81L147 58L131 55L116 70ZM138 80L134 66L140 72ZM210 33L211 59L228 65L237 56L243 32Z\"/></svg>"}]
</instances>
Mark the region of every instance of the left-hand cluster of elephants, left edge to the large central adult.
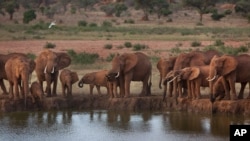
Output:
<instances>
[{"instance_id":1,"label":"left-hand cluster of elephants, left edge to the large central adult","mask_svg":"<svg viewBox=\"0 0 250 141\"><path fill-rule=\"evenodd\" d=\"M37 99L42 100L45 94L47 97L56 96L59 77L63 96L72 96L72 85L79 78L76 72L67 69L70 64L71 58L67 53L49 49L42 51L35 60L22 53L0 54L0 86L3 94L8 94L3 81L6 79L9 82L10 99L24 98L26 102L27 96L31 96L32 101L35 102ZM29 86L33 71L36 73L37 80ZM151 73L152 65L145 54L124 53L113 58L112 69L87 73L78 82L78 86L89 84L90 94L94 86L97 87L99 94L100 86L105 86L111 97L118 97L117 87L119 86L120 96L129 97L130 82L143 81L142 95L150 95Z\"/></svg>"}]
</instances>

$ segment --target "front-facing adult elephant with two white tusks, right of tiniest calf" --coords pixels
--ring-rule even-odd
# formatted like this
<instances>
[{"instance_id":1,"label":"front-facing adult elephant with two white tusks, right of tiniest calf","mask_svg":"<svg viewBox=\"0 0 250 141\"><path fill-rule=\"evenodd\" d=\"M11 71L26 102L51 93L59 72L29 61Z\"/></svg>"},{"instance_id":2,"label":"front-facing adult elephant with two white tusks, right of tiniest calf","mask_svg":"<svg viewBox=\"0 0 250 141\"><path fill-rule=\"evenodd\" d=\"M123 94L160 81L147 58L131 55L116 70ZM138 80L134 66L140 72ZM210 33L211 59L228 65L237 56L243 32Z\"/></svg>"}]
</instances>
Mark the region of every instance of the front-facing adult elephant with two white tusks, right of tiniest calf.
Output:
<instances>
[{"instance_id":1,"label":"front-facing adult elephant with two white tusks, right of tiniest calf","mask_svg":"<svg viewBox=\"0 0 250 141\"><path fill-rule=\"evenodd\" d=\"M64 52L53 52L49 49L42 51L35 60L35 72L40 85L43 88L43 81L46 81L47 97L56 96L56 87L59 70L68 67L71 63L71 58ZM53 89L51 92L51 85ZM52 93L52 94L51 94Z\"/></svg>"}]
</instances>

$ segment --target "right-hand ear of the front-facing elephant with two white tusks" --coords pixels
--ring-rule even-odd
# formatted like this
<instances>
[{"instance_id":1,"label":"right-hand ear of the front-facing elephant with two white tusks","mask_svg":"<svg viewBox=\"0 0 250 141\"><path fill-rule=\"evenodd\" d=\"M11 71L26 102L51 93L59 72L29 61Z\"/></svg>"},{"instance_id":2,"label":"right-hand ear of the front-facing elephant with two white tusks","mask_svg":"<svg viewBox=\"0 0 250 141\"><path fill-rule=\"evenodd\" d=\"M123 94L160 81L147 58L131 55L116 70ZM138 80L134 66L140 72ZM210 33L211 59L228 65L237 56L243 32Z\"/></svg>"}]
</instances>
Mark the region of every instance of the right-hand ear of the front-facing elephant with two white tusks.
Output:
<instances>
[{"instance_id":1,"label":"right-hand ear of the front-facing elephant with two white tusks","mask_svg":"<svg viewBox=\"0 0 250 141\"><path fill-rule=\"evenodd\" d=\"M58 69L66 68L71 63L71 58L67 53L57 53L58 56Z\"/></svg>"}]
</instances>

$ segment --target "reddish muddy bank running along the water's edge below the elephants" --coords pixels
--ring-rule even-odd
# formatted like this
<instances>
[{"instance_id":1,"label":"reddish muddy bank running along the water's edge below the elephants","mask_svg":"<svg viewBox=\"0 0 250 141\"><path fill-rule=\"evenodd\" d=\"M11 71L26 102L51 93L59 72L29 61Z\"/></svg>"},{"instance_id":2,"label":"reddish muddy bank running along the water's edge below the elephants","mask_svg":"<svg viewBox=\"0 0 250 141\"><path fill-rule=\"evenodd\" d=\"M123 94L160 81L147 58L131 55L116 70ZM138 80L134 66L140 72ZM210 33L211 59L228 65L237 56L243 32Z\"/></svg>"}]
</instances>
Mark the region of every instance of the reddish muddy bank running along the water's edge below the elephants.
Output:
<instances>
[{"instance_id":1,"label":"reddish muddy bank running along the water's edge below the elephants","mask_svg":"<svg viewBox=\"0 0 250 141\"><path fill-rule=\"evenodd\" d=\"M178 102L178 104L176 103ZM222 100L213 105L209 99L189 100L168 98L162 101L162 96L109 98L106 95L74 95L71 98L62 96L45 97L43 101L32 103L27 98L26 106L24 100L10 100L7 96L0 96L0 112L13 112L23 110L63 110L63 109L107 109L107 110L129 110L129 111L164 111L181 110L196 113L230 113L250 115L250 100L237 101Z\"/></svg>"}]
</instances>

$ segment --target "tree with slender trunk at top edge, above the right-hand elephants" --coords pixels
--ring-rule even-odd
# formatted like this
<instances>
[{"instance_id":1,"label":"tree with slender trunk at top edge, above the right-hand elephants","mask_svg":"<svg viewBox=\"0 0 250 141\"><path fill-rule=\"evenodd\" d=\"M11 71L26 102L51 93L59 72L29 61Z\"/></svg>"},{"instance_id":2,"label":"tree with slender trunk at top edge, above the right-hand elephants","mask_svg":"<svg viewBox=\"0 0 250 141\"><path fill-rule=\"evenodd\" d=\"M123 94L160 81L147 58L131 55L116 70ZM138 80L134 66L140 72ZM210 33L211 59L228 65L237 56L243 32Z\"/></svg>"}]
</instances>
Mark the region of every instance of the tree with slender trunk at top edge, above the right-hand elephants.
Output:
<instances>
[{"instance_id":1,"label":"tree with slender trunk at top edge, above the right-hand elephants","mask_svg":"<svg viewBox=\"0 0 250 141\"><path fill-rule=\"evenodd\" d=\"M211 7L214 7L216 0L184 0L184 5L194 7L200 14L200 23L202 23L203 14L208 13Z\"/></svg>"}]
</instances>

